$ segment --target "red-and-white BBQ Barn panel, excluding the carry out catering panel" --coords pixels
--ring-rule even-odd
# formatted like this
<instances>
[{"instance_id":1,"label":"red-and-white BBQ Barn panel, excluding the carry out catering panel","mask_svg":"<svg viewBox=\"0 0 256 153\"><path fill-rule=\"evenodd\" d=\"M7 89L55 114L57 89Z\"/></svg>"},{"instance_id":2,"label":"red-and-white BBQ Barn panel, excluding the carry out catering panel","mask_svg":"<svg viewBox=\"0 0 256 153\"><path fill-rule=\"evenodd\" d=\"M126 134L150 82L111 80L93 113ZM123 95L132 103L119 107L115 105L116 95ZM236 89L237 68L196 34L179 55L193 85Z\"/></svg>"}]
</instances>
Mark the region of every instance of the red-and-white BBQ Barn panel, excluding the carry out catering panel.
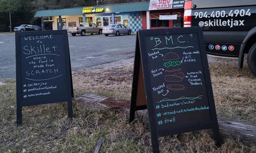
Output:
<instances>
[{"instance_id":1,"label":"red-and-white BBQ Barn panel, excluding the carry out catering panel","mask_svg":"<svg viewBox=\"0 0 256 153\"><path fill-rule=\"evenodd\" d=\"M150 0L149 10L164 10L172 8L173 0Z\"/></svg>"}]
</instances>

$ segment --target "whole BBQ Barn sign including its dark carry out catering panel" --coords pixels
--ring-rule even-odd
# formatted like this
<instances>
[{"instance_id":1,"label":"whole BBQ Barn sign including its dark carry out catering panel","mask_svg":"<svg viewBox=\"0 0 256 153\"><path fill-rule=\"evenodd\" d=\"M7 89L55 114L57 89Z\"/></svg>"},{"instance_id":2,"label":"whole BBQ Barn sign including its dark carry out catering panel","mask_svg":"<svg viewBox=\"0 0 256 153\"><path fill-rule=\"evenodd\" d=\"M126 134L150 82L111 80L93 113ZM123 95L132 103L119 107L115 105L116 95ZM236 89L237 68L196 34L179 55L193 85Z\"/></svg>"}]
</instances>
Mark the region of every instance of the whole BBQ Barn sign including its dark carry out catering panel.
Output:
<instances>
[{"instance_id":1,"label":"whole BBQ Barn sign including its dark carry out catering panel","mask_svg":"<svg viewBox=\"0 0 256 153\"><path fill-rule=\"evenodd\" d=\"M150 0L149 10L184 8L185 0Z\"/></svg>"}]
</instances>

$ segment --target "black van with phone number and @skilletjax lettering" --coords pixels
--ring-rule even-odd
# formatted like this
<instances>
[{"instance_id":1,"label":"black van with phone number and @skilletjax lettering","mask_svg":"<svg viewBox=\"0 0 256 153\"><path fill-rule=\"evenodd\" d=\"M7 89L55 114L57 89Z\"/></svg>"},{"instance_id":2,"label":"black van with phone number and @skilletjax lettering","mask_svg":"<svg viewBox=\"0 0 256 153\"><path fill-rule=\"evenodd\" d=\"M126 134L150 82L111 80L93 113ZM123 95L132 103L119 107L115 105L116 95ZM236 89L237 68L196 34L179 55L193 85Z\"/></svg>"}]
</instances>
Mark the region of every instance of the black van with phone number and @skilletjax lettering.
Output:
<instances>
[{"instance_id":1,"label":"black van with phone number and @skilletjax lettering","mask_svg":"<svg viewBox=\"0 0 256 153\"><path fill-rule=\"evenodd\" d=\"M234 57L256 76L256 0L185 0L184 27L202 27L207 54Z\"/></svg>"}]
</instances>

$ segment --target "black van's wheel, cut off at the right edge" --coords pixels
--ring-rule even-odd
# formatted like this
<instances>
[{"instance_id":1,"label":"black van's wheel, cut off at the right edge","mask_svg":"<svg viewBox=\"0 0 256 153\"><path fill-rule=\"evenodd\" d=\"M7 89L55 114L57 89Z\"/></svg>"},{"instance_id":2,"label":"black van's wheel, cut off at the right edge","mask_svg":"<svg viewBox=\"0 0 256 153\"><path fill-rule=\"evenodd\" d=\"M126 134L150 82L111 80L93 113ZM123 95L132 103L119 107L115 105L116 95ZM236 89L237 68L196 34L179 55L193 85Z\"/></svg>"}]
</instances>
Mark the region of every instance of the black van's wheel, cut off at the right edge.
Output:
<instances>
[{"instance_id":1,"label":"black van's wheel, cut off at the right edge","mask_svg":"<svg viewBox=\"0 0 256 153\"><path fill-rule=\"evenodd\" d=\"M252 74L256 76L256 43L252 45L248 52L247 64Z\"/></svg>"}]
</instances>

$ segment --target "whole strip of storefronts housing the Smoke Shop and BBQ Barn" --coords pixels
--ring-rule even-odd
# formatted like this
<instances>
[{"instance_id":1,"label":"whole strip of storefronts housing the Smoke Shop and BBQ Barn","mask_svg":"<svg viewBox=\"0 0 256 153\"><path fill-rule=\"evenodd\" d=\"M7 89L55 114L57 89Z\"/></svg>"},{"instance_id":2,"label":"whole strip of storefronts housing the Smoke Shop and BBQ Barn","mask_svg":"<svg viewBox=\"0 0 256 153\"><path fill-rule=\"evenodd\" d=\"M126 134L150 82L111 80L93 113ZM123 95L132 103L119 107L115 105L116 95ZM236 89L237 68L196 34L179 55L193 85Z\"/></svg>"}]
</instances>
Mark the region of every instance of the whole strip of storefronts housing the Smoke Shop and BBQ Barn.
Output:
<instances>
[{"instance_id":1,"label":"whole strip of storefronts housing the Smoke Shop and BBQ Barn","mask_svg":"<svg viewBox=\"0 0 256 153\"><path fill-rule=\"evenodd\" d=\"M141 29L183 27L184 0L150 0L147 2L98 5L38 11L45 30L78 27L92 22L97 26L123 24L136 32ZM114 19L114 20L112 20Z\"/></svg>"}]
</instances>

